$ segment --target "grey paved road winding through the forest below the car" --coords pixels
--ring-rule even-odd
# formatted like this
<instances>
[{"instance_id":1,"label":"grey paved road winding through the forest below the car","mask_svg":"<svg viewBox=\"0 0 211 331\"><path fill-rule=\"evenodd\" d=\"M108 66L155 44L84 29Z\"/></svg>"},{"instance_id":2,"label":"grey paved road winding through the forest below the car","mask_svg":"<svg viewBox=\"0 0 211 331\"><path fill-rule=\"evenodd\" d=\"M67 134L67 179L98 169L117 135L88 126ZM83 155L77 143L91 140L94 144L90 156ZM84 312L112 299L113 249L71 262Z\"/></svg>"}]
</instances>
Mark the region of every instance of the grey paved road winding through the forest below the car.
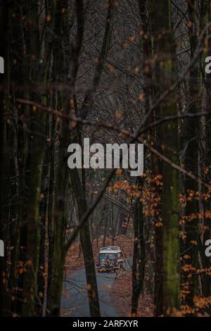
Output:
<instances>
[{"instance_id":1,"label":"grey paved road winding through the forest below the car","mask_svg":"<svg viewBox=\"0 0 211 331\"><path fill-rule=\"evenodd\" d=\"M126 270L129 270L127 263ZM118 313L113 304L113 284L115 273L96 273L98 293L101 306L101 316L117 317ZM61 310L65 316L89 317L89 304L87 297L87 282L84 268L79 269L65 278L63 283L63 296L61 298Z\"/></svg>"}]
</instances>

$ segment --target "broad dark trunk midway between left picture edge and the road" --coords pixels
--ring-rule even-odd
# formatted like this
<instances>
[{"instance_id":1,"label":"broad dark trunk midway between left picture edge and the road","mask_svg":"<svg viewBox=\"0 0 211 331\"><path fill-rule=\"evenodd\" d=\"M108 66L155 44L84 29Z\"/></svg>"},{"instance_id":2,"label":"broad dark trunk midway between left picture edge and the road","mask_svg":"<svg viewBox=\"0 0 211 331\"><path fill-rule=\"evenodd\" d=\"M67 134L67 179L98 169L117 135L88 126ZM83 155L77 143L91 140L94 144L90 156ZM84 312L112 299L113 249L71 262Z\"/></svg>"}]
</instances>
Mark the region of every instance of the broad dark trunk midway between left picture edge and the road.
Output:
<instances>
[{"instance_id":1,"label":"broad dark trunk midway between left picture edge and the road","mask_svg":"<svg viewBox=\"0 0 211 331\"><path fill-rule=\"evenodd\" d=\"M39 35L39 17L37 1L30 1L27 8L29 25L29 58L30 58L30 89L36 89L39 83L44 82L44 65L41 65L41 46ZM45 100L44 94L32 93L29 95L41 104ZM46 115L34 108L32 115L32 140L30 144L30 189L27 203L27 245L26 245L26 272L23 283L22 316L34 316L34 305L37 298L37 271L39 264L39 201L41 193L41 172L44 161L45 121ZM39 132L39 133L38 133Z\"/></svg>"}]
</instances>

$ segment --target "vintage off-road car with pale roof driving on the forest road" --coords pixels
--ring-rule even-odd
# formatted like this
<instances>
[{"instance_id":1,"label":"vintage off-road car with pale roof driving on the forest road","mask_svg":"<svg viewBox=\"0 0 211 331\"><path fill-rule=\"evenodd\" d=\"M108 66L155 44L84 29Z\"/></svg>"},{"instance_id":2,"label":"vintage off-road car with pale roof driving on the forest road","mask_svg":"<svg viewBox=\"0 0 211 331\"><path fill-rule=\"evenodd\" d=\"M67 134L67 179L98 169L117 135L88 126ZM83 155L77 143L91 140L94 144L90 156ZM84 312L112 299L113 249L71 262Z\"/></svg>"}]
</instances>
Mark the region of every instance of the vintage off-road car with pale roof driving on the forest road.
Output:
<instances>
[{"instance_id":1,"label":"vintage off-road car with pale roof driving on the forest road","mask_svg":"<svg viewBox=\"0 0 211 331\"><path fill-rule=\"evenodd\" d=\"M125 262L120 247L104 246L98 254L96 261L96 270L112 272L117 270L124 270Z\"/></svg>"}]
</instances>

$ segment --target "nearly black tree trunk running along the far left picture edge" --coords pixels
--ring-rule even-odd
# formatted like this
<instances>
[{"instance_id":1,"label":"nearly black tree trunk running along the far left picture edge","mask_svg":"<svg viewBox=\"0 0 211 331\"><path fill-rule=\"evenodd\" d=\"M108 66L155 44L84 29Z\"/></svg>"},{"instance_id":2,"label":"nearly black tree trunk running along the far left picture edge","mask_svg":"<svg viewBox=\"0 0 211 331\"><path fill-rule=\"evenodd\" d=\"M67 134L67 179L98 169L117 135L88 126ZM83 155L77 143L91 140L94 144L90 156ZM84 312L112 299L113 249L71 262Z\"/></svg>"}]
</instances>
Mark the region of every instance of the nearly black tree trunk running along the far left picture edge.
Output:
<instances>
[{"instance_id":1,"label":"nearly black tree trunk running along the far left picture edge","mask_svg":"<svg viewBox=\"0 0 211 331\"><path fill-rule=\"evenodd\" d=\"M0 56L4 61L4 73L0 73L0 240L1 246L4 246L4 256L0 257L0 316L9 316L10 298L8 294L8 273L7 273L7 249L8 236L6 233L6 202L8 176L8 142L6 137L5 114L8 111L8 77L11 46L11 18L13 1L1 1L0 4Z\"/></svg>"}]
</instances>

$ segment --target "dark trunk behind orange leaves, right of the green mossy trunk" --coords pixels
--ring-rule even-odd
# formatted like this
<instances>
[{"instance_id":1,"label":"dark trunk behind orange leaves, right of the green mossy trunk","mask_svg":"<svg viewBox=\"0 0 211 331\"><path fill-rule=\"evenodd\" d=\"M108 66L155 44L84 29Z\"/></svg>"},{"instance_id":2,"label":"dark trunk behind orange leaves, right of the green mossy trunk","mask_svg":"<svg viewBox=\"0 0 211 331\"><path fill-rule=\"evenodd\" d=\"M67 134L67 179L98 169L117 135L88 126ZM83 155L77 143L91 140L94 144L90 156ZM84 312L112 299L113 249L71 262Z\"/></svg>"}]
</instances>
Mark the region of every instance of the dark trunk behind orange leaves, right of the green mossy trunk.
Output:
<instances>
[{"instance_id":1,"label":"dark trunk behind orange leaves, right of the green mossy trunk","mask_svg":"<svg viewBox=\"0 0 211 331\"><path fill-rule=\"evenodd\" d=\"M188 20L191 22L188 27L188 35L190 39L191 45L191 59L193 58L196 46L198 42L197 37L197 23L196 23L196 4L197 1L190 0L188 1ZM189 74L189 106L188 111L190 113L196 113L198 108L200 107L200 56L198 57L198 61L193 65L190 69ZM185 168L190 170L191 173L198 175L198 134L199 134L199 125L198 120L196 118L190 118L186 120L185 123L185 142L186 142L186 153L185 153ZM196 160L196 161L193 161ZM191 180L190 177L186 176L184 189L186 197L188 198L188 194L190 192L198 192L198 184ZM186 216L191 216L191 214L197 214L199 212L199 206L197 199L186 199ZM196 217L191 222L186 222L185 231L186 231L186 249L188 250L188 255L191 257L188 262L197 270L199 268L198 261L198 239L199 239L199 228L198 228L199 220ZM193 276L190 280L187 280L189 283L189 294L186 296L185 303L188 306L193 307L193 296L199 294L199 284L198 284L198 276Z\"/></svg>"}]
</instances>

